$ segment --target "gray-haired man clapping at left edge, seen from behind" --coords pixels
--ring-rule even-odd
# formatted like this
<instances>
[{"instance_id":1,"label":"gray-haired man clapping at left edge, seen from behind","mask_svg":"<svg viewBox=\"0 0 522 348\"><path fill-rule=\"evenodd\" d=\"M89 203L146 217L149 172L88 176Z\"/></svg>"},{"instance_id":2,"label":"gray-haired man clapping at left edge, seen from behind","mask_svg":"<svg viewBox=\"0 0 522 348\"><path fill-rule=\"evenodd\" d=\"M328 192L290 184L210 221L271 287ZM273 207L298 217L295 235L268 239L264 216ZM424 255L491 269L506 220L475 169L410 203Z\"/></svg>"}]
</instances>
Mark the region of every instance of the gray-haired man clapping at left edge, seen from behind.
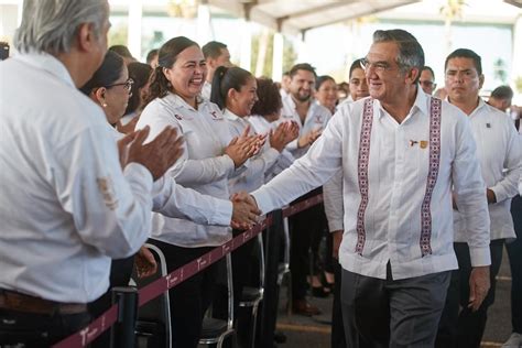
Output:
<instances>
[{"instance_id":1,"label":"gray-haired man clapping at left edge, seen from behind","mask_svg":"<svg viewBox=\"0 0 522 348\"><path fill-rule=\"evenodd\" d=\"M47 347L88 324L111 258L149 237L152 186L181 155L176 131L120 156L100 107L77 88L107 51L107 0L25 0L0 63L0 346ZM122 170L123 168L123 170Z\"/></svg>"}]
</instances>

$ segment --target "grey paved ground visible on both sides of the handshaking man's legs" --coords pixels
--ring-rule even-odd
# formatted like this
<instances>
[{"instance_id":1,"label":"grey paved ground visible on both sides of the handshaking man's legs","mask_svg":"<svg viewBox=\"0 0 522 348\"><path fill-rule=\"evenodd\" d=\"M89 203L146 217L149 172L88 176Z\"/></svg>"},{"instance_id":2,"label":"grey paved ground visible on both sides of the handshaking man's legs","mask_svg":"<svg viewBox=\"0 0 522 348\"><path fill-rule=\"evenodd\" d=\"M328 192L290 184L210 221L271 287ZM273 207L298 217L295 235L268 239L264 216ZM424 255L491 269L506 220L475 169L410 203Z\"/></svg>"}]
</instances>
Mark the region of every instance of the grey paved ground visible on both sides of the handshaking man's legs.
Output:
<instances>
[{"instance_id":1,"label":"grey paved ground visible on both sides of the handshaking man's legs","mask_svg":"<svg viewBox=\"0 0 522 348\"><path fill-rule=\"evenodd\" d=\"M502 267L497 283L497 300L489 309L488 324L482 341L482 347L501 347L511 334L510 312L510 270L504 252ZM285 309L285 289L281 292L280 315L278 328L282 330L287 340L280 344L280 348L327 348L330 339L331 296L327 298L312 298L313 303L323 309L323 315L304 317L287 315Z\"/></svg>"}]
</instances>

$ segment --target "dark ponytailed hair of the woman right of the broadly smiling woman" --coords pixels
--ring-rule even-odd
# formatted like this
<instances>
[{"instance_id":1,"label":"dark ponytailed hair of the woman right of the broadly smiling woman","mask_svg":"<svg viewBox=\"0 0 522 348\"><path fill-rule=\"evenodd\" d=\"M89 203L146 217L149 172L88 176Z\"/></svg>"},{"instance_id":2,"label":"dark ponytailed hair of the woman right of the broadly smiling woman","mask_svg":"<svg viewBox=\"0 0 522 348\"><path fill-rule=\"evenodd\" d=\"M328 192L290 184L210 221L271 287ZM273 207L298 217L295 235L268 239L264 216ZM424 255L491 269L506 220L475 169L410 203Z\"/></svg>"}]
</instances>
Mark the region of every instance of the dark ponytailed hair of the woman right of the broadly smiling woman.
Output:
<instances>
[{"instance_id":1,"label":"dark ponytailed hair of the woman right of the broadly smiling woman","mask_svg":"<svg viewBox=\"0 0 522 348\"><path fill-rule=\"evenodd\" d=\"M218 67L216 73L214 73L210 101L217 104L221 110L225 109L227 107L227 95L230 88L240 91L241 87L247 85L249 78L253 78L253 75L243 68L237 66Z\"/></svg>"}]
</instances>

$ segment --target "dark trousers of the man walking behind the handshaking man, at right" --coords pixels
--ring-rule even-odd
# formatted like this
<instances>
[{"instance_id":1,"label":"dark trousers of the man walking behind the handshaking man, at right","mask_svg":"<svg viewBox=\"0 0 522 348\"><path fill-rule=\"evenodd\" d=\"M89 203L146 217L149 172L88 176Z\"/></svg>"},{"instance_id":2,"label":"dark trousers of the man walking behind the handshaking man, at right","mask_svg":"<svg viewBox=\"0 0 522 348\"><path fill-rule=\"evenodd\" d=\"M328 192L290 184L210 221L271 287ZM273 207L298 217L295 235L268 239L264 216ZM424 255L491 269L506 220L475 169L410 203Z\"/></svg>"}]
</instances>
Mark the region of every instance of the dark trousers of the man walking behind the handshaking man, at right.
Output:
<instances>
[{"instance_id":1,"label":"dark trousers of the man walking behind the handshaking man, at right","mask_svg":"<svg viewBox=\"0 0 522 348\"><path fill-rule=\"evenodd\" d=\"M454 243L458 270L452 272L447 300L438 327L436 347L480 347L488 318L488 307L494 302L496 276L502 263L503 243L503 239L490 242L491 267L489 274L491 287L477 312L471 312L468 308L469 276L471 274L471 259L468 244L463 242ZM461 308L460 312L459 307Z\"/></svg>"}]
</instances>

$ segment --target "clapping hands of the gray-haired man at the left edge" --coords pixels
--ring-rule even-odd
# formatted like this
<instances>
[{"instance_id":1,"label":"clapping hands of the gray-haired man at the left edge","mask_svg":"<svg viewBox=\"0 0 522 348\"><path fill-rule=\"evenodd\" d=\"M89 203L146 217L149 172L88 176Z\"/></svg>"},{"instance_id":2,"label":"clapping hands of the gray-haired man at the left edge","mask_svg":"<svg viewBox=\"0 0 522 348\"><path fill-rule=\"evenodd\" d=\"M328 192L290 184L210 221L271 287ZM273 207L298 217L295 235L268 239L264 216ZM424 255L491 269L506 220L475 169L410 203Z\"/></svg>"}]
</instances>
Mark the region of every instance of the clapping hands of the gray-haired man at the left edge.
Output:
<instances>
[{"instance_id":1,"label":"clapping hands of the gray-haired man at the left edge","mask_svg":"<svg viewBox=\"0 0 522 348\"><path fill-rule=\"evenodd\" d=\"M177 137L175 128L165 127L156 138L144 144L149 132L149 126L135 131L134 141L129 145L127 163L142 164L156 181L182 156L183 137Z\"/></svg>"}]
</instances>

